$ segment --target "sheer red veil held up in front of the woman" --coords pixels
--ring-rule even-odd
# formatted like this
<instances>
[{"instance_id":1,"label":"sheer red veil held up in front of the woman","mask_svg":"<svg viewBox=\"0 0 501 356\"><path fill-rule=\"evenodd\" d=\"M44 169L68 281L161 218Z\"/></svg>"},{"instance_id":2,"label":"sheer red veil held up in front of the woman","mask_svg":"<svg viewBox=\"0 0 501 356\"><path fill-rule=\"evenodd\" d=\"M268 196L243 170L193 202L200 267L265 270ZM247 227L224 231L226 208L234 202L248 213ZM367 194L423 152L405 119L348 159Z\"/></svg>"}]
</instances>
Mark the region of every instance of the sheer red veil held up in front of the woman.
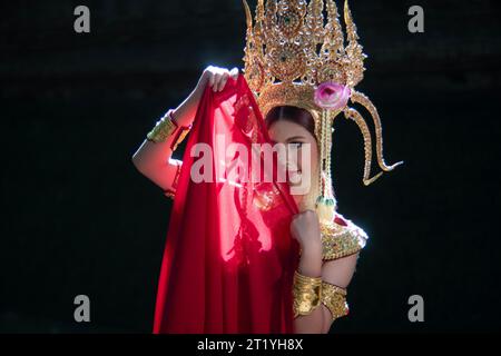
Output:
<instances>
[{"instance_id":1,"label":"sheer red veil held up in front of the woman","mask_svg":"<svg viewBox=\"0 0 501 356\"><path fill-rule=\"evenodd\" d=\"M222 137L224 146L217 144ZM242 156L228 152L230 144L250 152L252 144L265 142L267 130L243 76L229 79L222 92L206 89L176 190L155 334L294 333L292 284L298 243L291 238L289 222L297 207L286 184L242 182L224 172L228 156ZM191 157L195 144L210 147L210 157ZM202 158L214 165L214 182L190 179ZM259 160L263 164L263 157ZM244 170L252 169L252 159L238 161ZM276 161L273 166L276 171ZM210 174L205 169L196 171Z\"/></svg>"}]
</instances>

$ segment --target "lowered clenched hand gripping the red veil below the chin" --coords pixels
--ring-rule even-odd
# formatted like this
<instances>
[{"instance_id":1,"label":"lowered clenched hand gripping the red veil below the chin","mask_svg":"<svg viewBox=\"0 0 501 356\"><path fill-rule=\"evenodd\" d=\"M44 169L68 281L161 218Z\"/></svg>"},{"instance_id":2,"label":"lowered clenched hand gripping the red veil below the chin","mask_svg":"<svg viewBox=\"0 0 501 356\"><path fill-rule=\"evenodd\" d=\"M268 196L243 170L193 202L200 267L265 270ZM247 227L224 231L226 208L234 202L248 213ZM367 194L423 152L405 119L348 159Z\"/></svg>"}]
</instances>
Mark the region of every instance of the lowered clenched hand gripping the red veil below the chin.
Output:
<instances>
[{"instance_id":1,"label":"lowered clenched hand gripping the red veil below the chin","mask_svg":"<svg viewBox=\"0 0 501 356\"><path fill-rule=\"evenodd\" d=\"M297 214L291 222L291 234L299 241L303 251L313 253L322 258L322 238L318 216L313 210Z\"/></svg>"}]
</instances>

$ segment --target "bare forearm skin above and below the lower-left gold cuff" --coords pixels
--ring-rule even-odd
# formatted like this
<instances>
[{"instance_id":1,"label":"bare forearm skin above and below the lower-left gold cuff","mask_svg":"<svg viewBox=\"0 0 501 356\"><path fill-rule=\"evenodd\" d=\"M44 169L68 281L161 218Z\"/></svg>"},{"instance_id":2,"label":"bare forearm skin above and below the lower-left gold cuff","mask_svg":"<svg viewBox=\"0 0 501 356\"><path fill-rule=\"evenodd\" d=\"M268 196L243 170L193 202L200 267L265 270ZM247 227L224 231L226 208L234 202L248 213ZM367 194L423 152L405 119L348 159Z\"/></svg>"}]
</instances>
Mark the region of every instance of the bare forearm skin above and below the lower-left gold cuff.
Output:
<instances>
[{"instance_id":1,"label":"bare forearm skin above and below the lower-left gold cuff","mask_svg":"<svg viewBox=\"0 0 501 356\"><path fill-rule=\"evenodd\" d=\"M322 276L322 249L318 246L303 248L298 273L307 277ZM296 334L321 334L324 325L324 314L318 306L308 315L295 318Z\"/></svg>"}]
</instances>

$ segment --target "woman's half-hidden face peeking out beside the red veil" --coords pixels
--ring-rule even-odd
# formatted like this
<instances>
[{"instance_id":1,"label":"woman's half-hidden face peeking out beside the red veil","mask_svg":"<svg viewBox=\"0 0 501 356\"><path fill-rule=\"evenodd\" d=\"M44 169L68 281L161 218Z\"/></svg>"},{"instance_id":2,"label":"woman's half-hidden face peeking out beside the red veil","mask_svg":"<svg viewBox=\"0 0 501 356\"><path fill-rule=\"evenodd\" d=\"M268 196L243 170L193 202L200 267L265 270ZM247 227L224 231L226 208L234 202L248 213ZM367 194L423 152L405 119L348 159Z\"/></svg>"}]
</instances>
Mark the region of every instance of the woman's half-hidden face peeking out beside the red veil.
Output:
<instances>
[{"instance_id":1,"label":"woman's half-hidden face peeking out beside the red veil","mask_svg":"<svg viewBox=\"0 0 501 356\"><path fill-rule=\"evenodd\" d=\"M315 137L310 134L310 131L303 126L289 120L275 121L268 128L268 134L273 144L285 145L287 148L287 152L297 152L287 155L287 166L296 167L297 174L299 175L299 177L294 177L294 175L291 174L289 180L294 180L295 182L293 184L289 181L289 185L292 187L301 185L302 179L304 178L303 175L310 175L310 182L312 182L314 179L313 172L316 171L318 166L318 148ZM310 146L310 152L306 149L306 145ZM308 155L310 157L303 157L304 155ZM310 169L307 169L307 166L304 167L303 165L303 162L305 162L306 160L310 161ZM295 169L293 169L293 171ZM293 194L293 197L297 204L301 204L305 195L306 194Z\"/></svg>"}]
</instances>

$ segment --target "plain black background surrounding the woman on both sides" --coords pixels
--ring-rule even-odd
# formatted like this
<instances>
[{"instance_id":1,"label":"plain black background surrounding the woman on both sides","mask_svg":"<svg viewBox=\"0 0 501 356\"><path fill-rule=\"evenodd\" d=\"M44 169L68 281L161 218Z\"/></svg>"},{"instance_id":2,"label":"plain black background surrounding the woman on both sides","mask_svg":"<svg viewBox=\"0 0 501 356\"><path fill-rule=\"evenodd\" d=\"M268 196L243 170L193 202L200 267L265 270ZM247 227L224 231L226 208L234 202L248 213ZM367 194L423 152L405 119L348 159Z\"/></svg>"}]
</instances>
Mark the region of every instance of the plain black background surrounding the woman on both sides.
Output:
<instances>
[{"instance_id":1,"label":"plain black background surrounding the woman on both sides","mask_svg":"<svg viewBox=\"0 0 501 356\"><path fill-rule=\"evenodd\" d=\"M90 33L73 31L78 4ZM413 4L424 33L407 31ZM362 136L337 120L340 212L371 239L332 332L499 330L500 2L351 7L369 55L357 89L386 162L405 165L363 187ZM150 333L171 202L130 158L206 66L242 68L242 2L18 0L0 16L0 332ZM407 319L414 294L424 323Z\"/></svg>"}]
</instances>

